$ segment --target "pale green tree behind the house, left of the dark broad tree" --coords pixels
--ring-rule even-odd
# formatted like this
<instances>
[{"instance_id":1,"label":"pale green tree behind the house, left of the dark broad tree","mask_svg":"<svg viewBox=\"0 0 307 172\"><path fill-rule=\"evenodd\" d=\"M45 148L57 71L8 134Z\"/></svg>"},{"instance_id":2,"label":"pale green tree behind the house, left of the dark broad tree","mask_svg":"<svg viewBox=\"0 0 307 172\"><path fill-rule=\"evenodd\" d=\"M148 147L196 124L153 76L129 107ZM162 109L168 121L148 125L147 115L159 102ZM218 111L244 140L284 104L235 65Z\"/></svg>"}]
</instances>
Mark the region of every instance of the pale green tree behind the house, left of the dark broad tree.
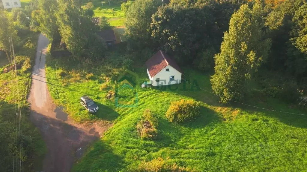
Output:
<instances>
[{"instance_id":1,"label":"pale green tree behind the house, left of the dark broad tree","mask_svg":"<svg viewBox=\"0 0 307 172\"><path fill-rule=\"evenodd\" d=\"M128 8L125 32L131 44L141 46L151 43L151 16L161 5L161 0L136 0Z\"/></svg>"}]
</instances>

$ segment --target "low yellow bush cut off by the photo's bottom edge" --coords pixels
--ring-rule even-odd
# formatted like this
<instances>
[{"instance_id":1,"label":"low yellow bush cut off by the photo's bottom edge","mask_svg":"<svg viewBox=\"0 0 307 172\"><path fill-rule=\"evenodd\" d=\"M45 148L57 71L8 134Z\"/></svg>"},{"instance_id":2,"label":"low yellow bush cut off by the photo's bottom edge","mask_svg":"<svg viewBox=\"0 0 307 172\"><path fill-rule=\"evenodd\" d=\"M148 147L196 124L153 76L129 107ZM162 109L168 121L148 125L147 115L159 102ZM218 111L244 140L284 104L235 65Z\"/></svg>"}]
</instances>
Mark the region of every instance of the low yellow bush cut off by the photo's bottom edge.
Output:
<instances>
[{"instance_id":1,"label":"low yellow bush cut off by the photo's bottom edge","mask_svg":"<svg viewBox=\"0 0 307 172\"><path fill-rule=\"evenodd\" d=\"M187 168L177 166L176 164L169 165L166 161L159 157L150 162L142 161L138 166L138 172L188 172L194 171Z\"/></svg>"}]
</instances>

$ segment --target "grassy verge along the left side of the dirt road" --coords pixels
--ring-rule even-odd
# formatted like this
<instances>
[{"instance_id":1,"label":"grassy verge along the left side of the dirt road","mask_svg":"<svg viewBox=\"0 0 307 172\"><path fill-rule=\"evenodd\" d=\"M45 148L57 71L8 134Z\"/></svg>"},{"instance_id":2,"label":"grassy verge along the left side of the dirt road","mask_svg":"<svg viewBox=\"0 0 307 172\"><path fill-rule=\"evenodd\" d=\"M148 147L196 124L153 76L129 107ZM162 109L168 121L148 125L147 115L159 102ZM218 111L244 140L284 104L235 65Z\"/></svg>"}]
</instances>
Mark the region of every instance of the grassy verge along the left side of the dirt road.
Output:
<instances>
[{"instance_id":1,"label":"grassy verge along the left side of the dirt road","mask_svg":"<svg viewBox=\"0 0 307 172\"><path fill-rule=\"evenodd\" d=\"M12 73L10 71L7 72L7 69L10 70L10 65L8 65L9 62L7 60L1 59L1 62L7 63L2 64L0 68L0 113L8 115L6 117L7 120L12 121L13 124L13 114L11 114L13 112L13 97L14 95L15 99L18 97L21 102L22 134L26 135L26 137L30 136L28 139L31 138L31 144L34 145L34 152L31 152L32 155L28 155L29 159L27 159L24 164L26 171L41 171L42 160L47 151L39 130L29 121L29 104L27 103L27 97L31 88L32 81L31 66L34 63L38 36L39 33L37 32L32 32L29 30L22 31L20 36L20 43L14 47L16 51L16 64L21 65L21 68L17 70L19 96L17 96L16 80L15 78L13 79ZM25 147L24 150L26 149L29 148Z\"/></svg>"}]
</instances>

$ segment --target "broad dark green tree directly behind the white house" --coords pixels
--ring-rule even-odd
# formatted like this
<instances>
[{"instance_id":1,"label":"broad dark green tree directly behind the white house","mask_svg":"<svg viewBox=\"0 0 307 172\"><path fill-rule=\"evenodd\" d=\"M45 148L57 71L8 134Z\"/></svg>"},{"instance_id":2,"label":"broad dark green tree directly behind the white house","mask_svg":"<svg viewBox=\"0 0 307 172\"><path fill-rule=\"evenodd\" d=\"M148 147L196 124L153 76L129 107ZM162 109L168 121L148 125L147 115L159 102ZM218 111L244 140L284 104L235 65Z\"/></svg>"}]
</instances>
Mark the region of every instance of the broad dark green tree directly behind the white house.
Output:
<instances>
[{"instance_id":1,"label":"broad dark green tree directly behind the white house","mask_svg":"<svg viewBox=\"0 0 307 172\"><path fill-rule=\"evenodd\" d=\"M160 6L152 16L152 37L159 47L182 63L202 61L202 64L209 64L214 61L213 55L200 58L200 54L208 48L218 51L231 14L239 8L238 3L172 1ZM204 65L198 67L208 69Z\"/></svg>"}]
</instances>

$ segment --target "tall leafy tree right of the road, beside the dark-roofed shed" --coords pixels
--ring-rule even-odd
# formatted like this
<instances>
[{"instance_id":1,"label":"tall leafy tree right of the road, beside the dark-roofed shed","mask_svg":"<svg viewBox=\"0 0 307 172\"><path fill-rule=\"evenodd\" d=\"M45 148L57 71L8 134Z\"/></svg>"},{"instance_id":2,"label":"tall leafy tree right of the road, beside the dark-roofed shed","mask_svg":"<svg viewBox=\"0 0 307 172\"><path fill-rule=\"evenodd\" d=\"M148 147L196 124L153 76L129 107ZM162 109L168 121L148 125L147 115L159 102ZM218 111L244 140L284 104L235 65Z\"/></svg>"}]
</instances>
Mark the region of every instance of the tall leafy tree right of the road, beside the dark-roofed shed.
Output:
<instances>
[{"instance_id":1,"label":"tall leafy tree right of the road, beside the dark-roofed shed","mask_svg":"<svg viewBox=\"0 0 307 172\"><path fill-rule=\"evenodd\" d=\"M104 41L95 33L95 24L75 0L59 0L57 25L68 50L75 57L99 58L105 50Z\"/></svg>"}]
</instances>

